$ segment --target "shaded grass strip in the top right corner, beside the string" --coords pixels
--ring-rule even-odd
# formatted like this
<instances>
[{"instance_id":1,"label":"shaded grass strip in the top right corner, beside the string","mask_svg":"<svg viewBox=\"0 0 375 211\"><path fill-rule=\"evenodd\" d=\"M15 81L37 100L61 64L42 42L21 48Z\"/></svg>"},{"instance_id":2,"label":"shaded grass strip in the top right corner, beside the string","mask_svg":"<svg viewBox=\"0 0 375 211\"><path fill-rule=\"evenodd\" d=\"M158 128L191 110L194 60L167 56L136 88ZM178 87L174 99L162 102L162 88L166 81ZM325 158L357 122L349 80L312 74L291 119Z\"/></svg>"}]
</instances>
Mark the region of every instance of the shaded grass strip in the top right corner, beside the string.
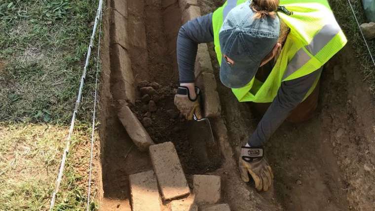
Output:
<instances>
[{"instance_id":1,"label":"shaded grass strip in the top right corner, beside the string","mask_svg":"<svg viewBox=\"0 0 375 211\"><path fill-rule=\"evenodd\" d=\"M366 48L363 37L358 29L358 25L354 19L349 3L347 0L329 0L329 2L338 23L348 38L348 44L351 44L354 47L356 52L355 57L358 58L362 66L359 67L359 69L361 69L365 75L364 80L369 83L369 91L375 95L375 67ZM362 0L350 0L350 2L353 5L359 24L370 22L366 20ZM375 56L375 40L367 40L367 42L373 56Z\"/></svg>"}]
</instances>

